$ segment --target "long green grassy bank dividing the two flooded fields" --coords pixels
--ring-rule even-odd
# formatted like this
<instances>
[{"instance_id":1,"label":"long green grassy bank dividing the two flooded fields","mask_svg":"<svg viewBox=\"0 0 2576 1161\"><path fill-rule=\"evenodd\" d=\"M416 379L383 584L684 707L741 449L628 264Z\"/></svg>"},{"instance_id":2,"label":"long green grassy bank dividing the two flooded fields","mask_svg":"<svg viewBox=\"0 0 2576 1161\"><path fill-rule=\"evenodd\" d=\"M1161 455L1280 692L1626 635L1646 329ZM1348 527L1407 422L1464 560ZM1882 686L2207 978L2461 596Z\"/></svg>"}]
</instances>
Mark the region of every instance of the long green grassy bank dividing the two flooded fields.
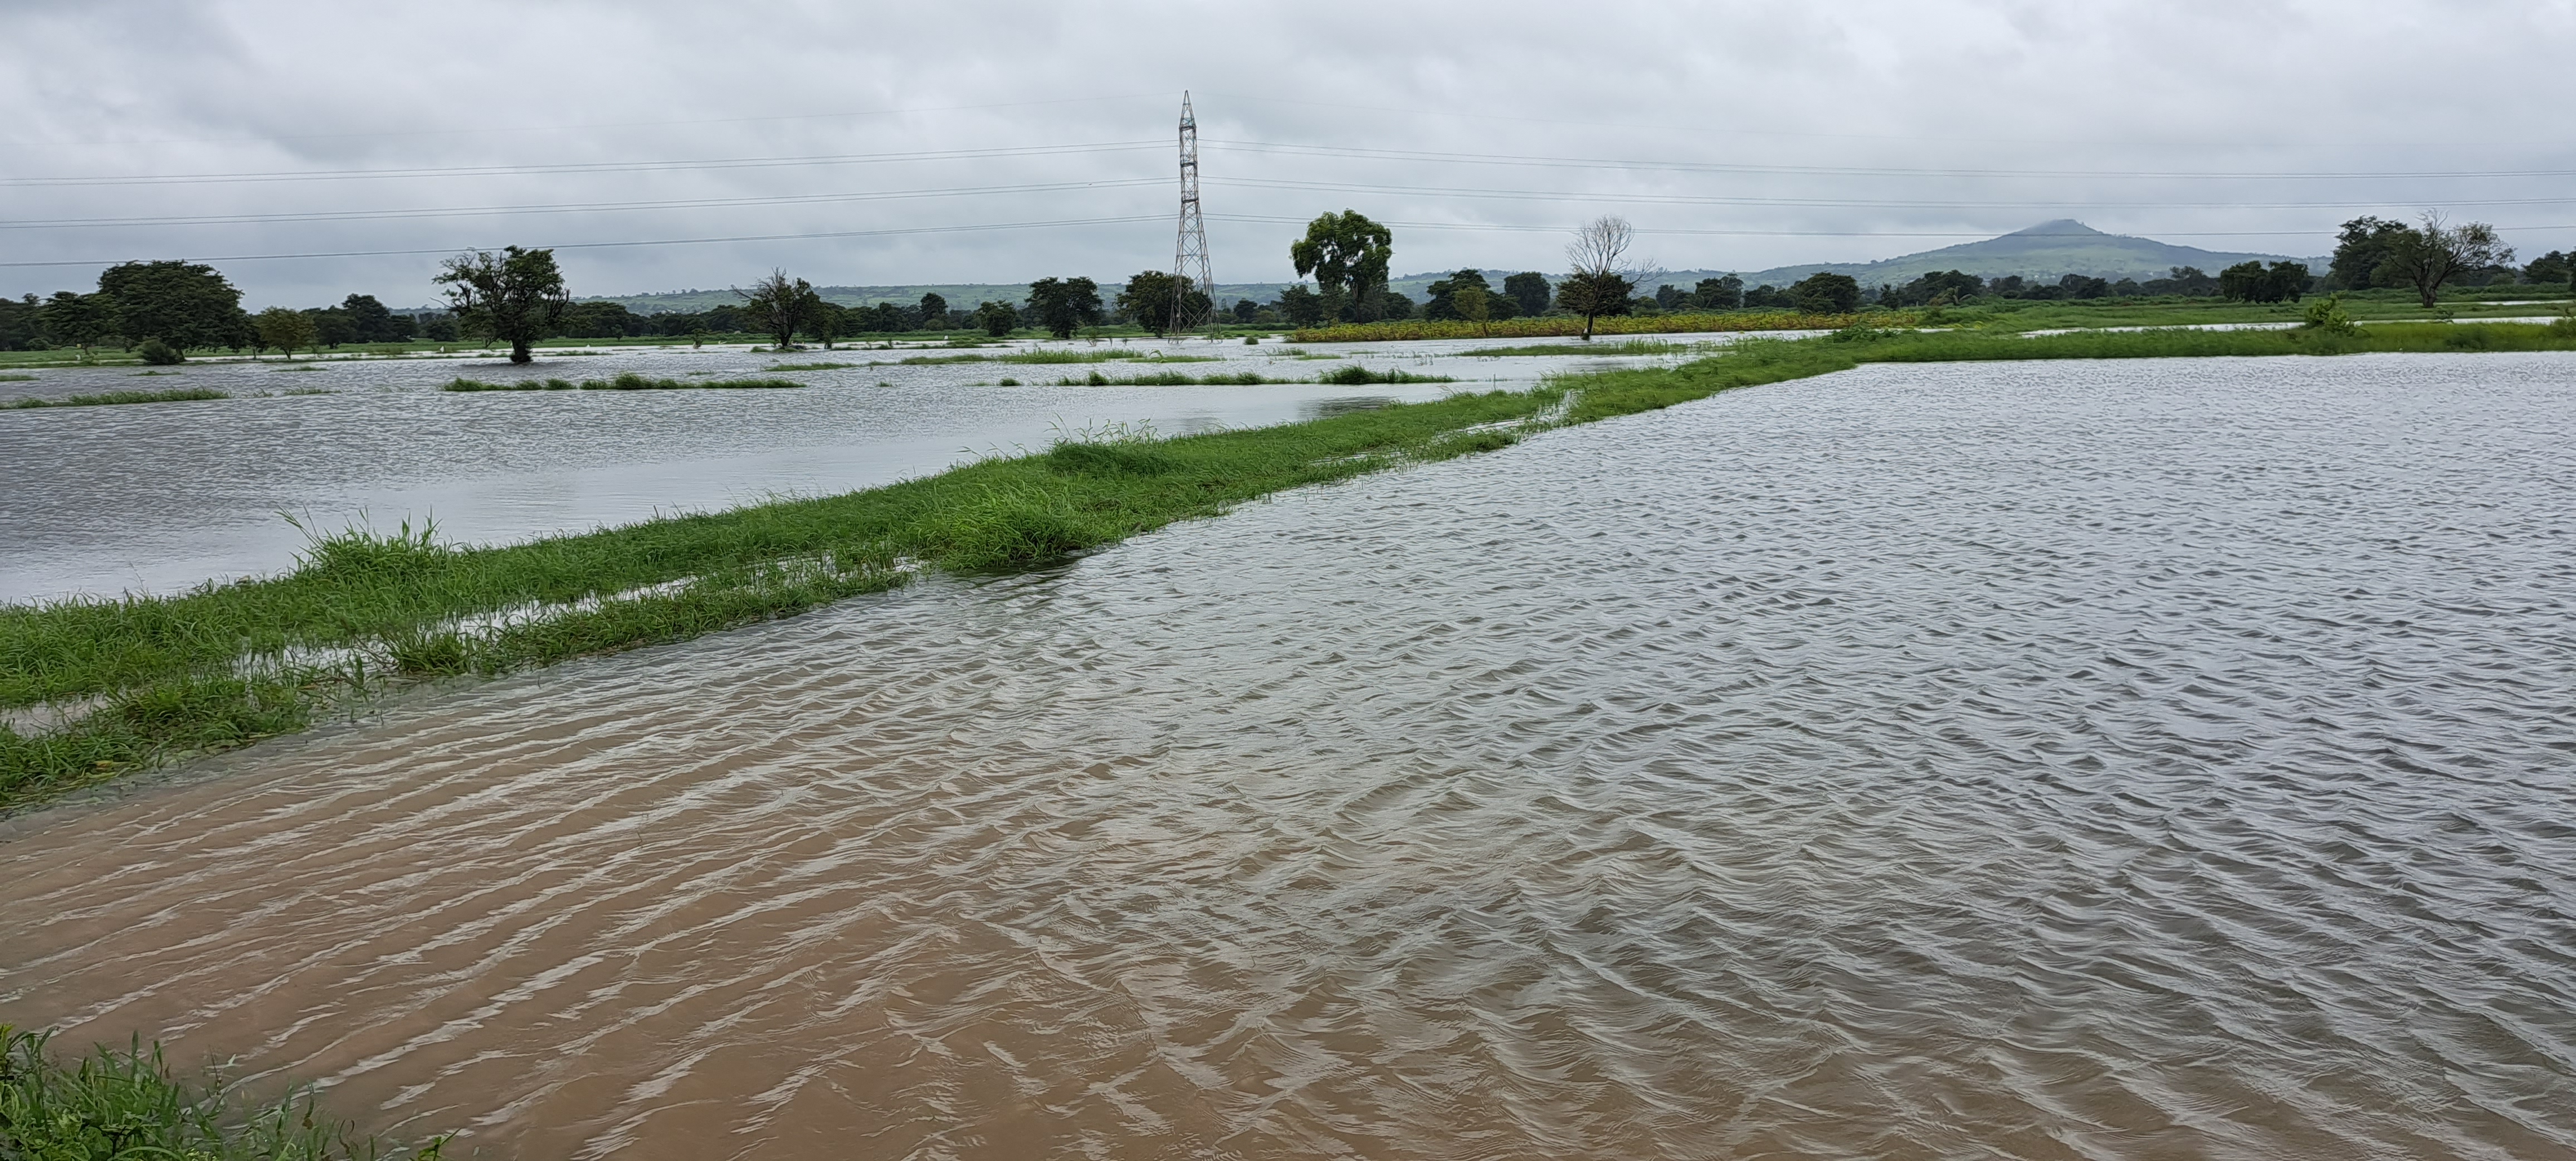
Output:
<instances>
[{"instance_id":1,"label":"long green grassy bank dividing the two flooded fields","mask_svg":"<svg viewBox=\"0 0 2576 1161\"><path fill-rule=\"evenodd\" d=\"M1862 363L2576 350L2558 324L2074 335L1844 330L1680 368L1564 376L1278 427L1084 432L1043 453L824 499L459 548L322 535L281 577L0 608L0 811L304 729L389 685L683 641L904 584L1041 569L1175 520L1528 432Z\"/></svg>"}]
</instances>

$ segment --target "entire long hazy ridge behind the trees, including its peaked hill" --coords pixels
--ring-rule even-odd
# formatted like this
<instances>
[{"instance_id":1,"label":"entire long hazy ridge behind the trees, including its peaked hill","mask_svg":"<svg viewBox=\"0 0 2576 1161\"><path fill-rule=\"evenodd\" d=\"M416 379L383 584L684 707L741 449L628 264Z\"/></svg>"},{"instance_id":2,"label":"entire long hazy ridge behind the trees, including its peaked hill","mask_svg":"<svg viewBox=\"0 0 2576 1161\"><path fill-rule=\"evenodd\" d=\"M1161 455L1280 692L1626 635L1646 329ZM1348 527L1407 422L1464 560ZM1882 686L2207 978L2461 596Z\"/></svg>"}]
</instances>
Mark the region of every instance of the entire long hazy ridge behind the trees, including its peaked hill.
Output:
<instances>
[{"instance_id":1,"label":"entire long hazy ridge behind the trees, including its peaked hill","mask_svg":"<svg viewBox=\"0 0 2576 1161\"><path fill-rule=\"evenodd\" d=\"M2177 247L2156 242L2151 237L2105 234L2076 219L2040 221L2030 229L2017 229L2004 237L1989 237L1984 242L1965 242L1955 247L1924 250L1919 255L1886 257L1878 263L1816 263L1816 265L1775 265L1770 270L1739 273L1739 270L1667 270L1651 283L1672 283L1690 288L1700 278L1721 278L1736 273L1744 286L1788 286L1819 270L1847 273L1860 281L1860 286L1878 283L1909 283L1924 273L1935 270L1965 270L1978 278L2022 275L2035 281L2058 281L2063 275L2079 273L2087 278L2164 278L2166 270L2177 265L2197 265L2205 273L2218 273L2236 263L2280 263L2282 255L2239 255L2200 247ZM2308 263L2311 270L2324 273L2324 257L2293 257L2293 263ZM1430 283L1448 278L1453 270L1430 270L1388 278L1388 288L1404 293L1414 301L1430 296ZM1512 270L1486 270L1484 273L1494 288ZM1561 278L1548 270L1548 281ZM1126 278L1095 278L1100 283L1100 296L1110 299L1126 286ZM1231 304L1234 299L1270 301L1278 299L1291 283L1216 283L1216 301ZM979 301L1007 301L1018 306L1028 299L1028 283L940 283L940 286L817 286L817 291L842 306L873 306L881 301L914 304L922 293L938 293L948 299L948 306L974 309ZM1641 286L1641 291L1654 291L1654 286ZM708 306L729 306L742 299L724 291L667 291L667 293L603 293L585 296L582 301L616 301L636 314L665 314L665 311L703 311Z\"/></svg>"}]
</instances>

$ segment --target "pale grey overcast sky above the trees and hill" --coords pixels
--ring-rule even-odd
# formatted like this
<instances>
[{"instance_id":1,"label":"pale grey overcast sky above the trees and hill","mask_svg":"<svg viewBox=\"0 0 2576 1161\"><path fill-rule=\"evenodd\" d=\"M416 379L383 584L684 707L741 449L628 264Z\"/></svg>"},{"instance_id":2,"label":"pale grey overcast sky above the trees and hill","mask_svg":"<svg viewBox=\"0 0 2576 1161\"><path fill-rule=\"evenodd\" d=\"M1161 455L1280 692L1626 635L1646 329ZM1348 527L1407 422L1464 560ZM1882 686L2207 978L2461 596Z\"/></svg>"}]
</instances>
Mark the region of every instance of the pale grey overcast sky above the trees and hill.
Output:
<instances>
[{"instance_id":1,"label":"pale grey overcast sky above the trees and hill","mask_svg":"<svg viewBox=\"0 0 2576 1161\"><path fill-rule=\"evenodd\" d=\"M0 0L0 293L193 257L412 306L505 242L574 293L1123 278L1172 263L1182 90L1224 283L1337 209L1396 273L1556 270L1600 214L1674 270L2421 209L2530 257L2576 247L2571 46L2576 0Z\"/></svg>"}]
</instances>

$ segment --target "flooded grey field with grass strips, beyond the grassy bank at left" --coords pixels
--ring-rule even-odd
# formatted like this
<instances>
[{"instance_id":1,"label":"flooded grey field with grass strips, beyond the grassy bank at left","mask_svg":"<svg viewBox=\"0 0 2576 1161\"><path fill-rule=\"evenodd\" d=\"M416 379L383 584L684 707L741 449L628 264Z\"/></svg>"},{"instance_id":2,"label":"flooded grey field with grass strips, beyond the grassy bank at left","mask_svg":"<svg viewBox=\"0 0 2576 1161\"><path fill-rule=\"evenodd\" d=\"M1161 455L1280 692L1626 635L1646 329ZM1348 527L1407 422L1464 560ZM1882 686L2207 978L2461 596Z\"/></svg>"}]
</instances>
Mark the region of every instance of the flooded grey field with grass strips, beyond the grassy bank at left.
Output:
<instances>
[{"instance_id":1,"label":"flooded grey field with grass strips, beyond the grassy bank at left","mask_svg":"<svg viewBox=\"0 0 2576 1161\"><path fill-rule=\"evenodd\" d=\"M1708 348L1267 340L773 355L680 345L541 350L533 366L474 355L191 360L155 376L46 368L0 384L0 445L10 450L0 458L0 600L175 592L278 571L307 543L283 515L319 530L435 520L443 541L507 543L850 492L1038 450L1100 425L1185 435L1291 422L1528 386L1571 368L1674 363ZM544 389L618 376L801 389ZM448 391L459 378L538 389ZM222 399L10 407L137 391Z\"/></svg>"}]
</instances>

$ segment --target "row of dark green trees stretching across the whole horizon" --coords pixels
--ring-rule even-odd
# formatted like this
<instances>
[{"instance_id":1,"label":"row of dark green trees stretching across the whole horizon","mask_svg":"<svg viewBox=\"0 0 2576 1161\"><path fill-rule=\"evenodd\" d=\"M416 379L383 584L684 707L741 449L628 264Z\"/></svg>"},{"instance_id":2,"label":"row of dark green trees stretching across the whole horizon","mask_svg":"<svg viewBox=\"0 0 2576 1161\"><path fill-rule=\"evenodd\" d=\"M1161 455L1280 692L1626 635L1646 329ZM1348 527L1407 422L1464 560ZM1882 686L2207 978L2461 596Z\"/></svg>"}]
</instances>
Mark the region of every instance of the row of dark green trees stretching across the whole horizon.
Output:
<instances>
[{"instance_id":1,"label":"row of dark green trees stretching across the whole horizon","mask_svg":"<svg viewBox=\"0 0 2576 1161\"><path fill-rule=\"evenodd\" d=\"M1092 278L1038 278L1020 304L981 301L974 309L951 306L940 293L912 304L842 306L822 299L804 278L786 270L737 291L739 304L703 311L636 314L618 301L572 301L551 250L502 247L469 250L440 263L435 283L448 299L443 311L394 311L376 296L350 293L335 306L242 309L237 291L219 270L201 263L160 260L121 263L98 275L95 291L57 291L0 299L0 350L49 350L118 345L139 350L147 363L175 363L185 350L296 350L340 348L350 342L510 342L513 360L528 360L528 345L546 337L690 337L768 335L781 348L796 340L832 345L840 337L981 330L1010 335L1038 330L1072 337L1105 324L1136 324L1162 335L1172 319L1224 319L1247 327L1321 327L1327 322L1461 319L1499 322L1515 317L1566 314L1587 319L1615 314L1795 309L1808 314L1850 314L1862 306L1947 306L1978 299L2130 299L2184 296L2231 301L2298 301L2318 291L2409 288L2432 306L2442 286L2491 286L2499 281L2566 286L2576 291L2576 257L2548 252L2514 268L2514 250L2501 245L2483 221L2447 224L2424 214L2419 224L2380 216L2344 221L2326 273L2306 263L2239 263L2202 273L2177 265L2166 278L2061 275L2035 281L2022 275L1978 278L1960 270L1927 270L1909 283L1860 286L1852 275L1814 273L1790 286L1744 286L1741 275L1700 278L1690 288L1672 283L1641 293L1654 281L1651 263L1633 263L1633 229L1623 219L1597 219L1569 245L1569 270L1553 281L1540 270L1504 275L1492 286L1484 270L1468 268L1430 283L1427 301L1388 288L1394 232L1358 211L1321 214L1288 247L1298 283L1273 301L1208 301L1206 291L1175 281L1167 270L1139 270L1123 288L1105 293ZM1303 278L1311 278L1309 286Z\"/></svg>"}]
</instances>

